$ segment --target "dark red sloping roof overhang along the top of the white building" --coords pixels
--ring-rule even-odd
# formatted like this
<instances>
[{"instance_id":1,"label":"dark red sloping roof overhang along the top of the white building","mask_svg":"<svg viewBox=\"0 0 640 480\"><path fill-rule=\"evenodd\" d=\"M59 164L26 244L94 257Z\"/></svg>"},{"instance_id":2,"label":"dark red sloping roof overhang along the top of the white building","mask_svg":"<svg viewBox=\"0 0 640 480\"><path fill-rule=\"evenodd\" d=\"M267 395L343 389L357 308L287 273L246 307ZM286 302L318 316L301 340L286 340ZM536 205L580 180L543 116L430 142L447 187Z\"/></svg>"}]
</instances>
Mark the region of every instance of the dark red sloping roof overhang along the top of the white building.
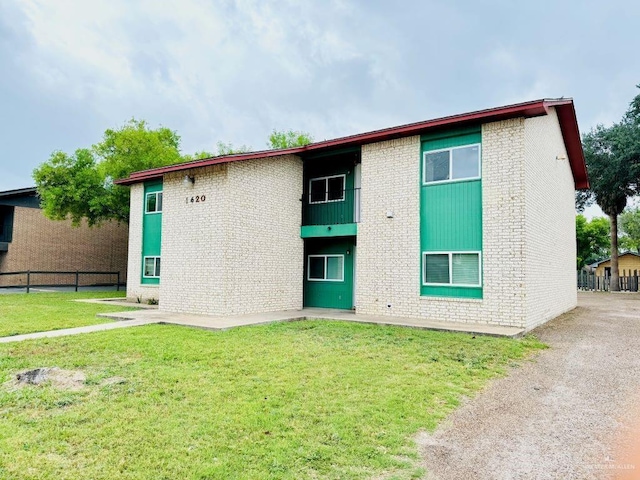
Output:
<instances>
[{"instance_id":1,"label":"dark red sloping roof overhang along the top of the white building","mask_svg":"<svg viewBox=\"0 0 640 480\"><path fill-rule=\"evenodd\" d=\"M385 128L375 130L373 132L351 135L348 137L336 138L333 140L324 140L315 142L304 147L286 148L281 150L264 150L259 152L241 153L237 155L225 155L221 157L204 158L191 162L170 165L167 167L154 168L151 170L143 170L132 173L128 178L116 180L119 185L132 185L135 183L145 182L148 180L161 179L165 174L172 172L180 172L193 168L208 167L221 163L240 162L244 160L254 160L259 158L276 157L280 155L303 155L305 153L320 153L337 148L362 146L367 143L381 142L384 140L392 140L410 135L421 135L427 132L443 130L453 126L465 126L489 122L497 122L500 120L508 120L518 117L538 117L547 115L550 108L555 108L560 122L560 129L564 139L565 148L569 157L571 171L575 187L584 189L589 187L587 178L587 169L584 162L584 154L582 152L582 143L580 141L580 132L578 130L578 121L576 119L575 109L572 99L544 99L532 102L518 103L515 105L507 105L504 107L490 108L487 110L478 110L476 112L463 113L460 115L452 115L448 117L436 118L434 120L426 120L423 122L410 123L399 127Z\"/></svg>"}]
</instances>

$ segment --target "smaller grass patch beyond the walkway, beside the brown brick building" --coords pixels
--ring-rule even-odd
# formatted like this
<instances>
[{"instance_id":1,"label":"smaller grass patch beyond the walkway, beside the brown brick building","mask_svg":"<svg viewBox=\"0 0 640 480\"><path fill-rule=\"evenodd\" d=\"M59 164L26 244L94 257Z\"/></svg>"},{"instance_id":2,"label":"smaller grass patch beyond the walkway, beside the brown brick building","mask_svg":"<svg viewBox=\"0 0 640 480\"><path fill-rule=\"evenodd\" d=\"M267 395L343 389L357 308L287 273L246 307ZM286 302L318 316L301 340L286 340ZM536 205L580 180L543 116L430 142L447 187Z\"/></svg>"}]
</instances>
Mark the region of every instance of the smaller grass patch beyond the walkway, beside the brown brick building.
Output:
<instances>
[{"instance_id":1,"label":"smaller grass patch beyond the walkway, beside the brown brick building","mask_svg":"<svg viewBox=\"0 0 640 480\"><path fill-rule=\"evenodd\" d=\"M122 312L127 308L78 303L78 298L124 297L125 292L10 293L0 295L0 337L23 333L84 327L110 320L97 313Z\"/></svg>"}]
</instances>

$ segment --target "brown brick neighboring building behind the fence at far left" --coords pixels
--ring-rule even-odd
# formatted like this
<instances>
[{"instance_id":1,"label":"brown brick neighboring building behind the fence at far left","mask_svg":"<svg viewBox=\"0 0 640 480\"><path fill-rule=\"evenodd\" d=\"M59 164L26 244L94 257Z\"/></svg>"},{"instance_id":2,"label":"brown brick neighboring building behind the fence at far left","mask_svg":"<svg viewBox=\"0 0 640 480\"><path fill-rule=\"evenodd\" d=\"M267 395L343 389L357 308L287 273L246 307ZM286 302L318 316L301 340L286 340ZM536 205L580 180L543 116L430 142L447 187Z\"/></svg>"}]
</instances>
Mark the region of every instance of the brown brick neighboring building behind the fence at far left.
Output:
<instances>
[{"instance_id":1,"label":"brown brick neighboring building behind the fence at far left","mask_svg":"<svg viewBox=\"0 0 640 480\"><path fill-rule=\"evenodd\" d=\"M71 221L46 218L35 188L0 192L0 273L21 271L120 272L127 278L126 225L107 222L73 227ZM70 283L69 275L37 275L35 284ZM84 284L114 282L104 275L83 275ZM24 275L0 276L0 286L26 282Z\"/></svg>"}]
</instances>

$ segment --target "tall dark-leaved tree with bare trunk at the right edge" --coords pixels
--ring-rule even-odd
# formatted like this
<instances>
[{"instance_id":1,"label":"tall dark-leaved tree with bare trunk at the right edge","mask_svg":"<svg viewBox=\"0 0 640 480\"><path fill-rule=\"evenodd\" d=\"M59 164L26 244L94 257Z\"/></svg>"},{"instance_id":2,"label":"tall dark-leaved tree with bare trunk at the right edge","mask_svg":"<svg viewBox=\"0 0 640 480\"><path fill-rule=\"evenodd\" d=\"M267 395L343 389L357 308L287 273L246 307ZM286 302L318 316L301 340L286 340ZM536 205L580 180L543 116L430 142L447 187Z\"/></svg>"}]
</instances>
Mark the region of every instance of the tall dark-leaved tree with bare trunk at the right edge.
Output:
<instances>
[{"instance_id":1,"label":"tall dark-leaved tree with bare trunk at the right edge","mask_svg":"<svg viewBox=\"0 0 640 480\"><path fill-rule=\"evenodd\" d=\"M582 138L590 190L576 196L578 209L595 201L611 221L611 290L619 290L618 215L638 193L640 179L640 95L622 121L598 125Z\"/></svg>"}]
</instances>

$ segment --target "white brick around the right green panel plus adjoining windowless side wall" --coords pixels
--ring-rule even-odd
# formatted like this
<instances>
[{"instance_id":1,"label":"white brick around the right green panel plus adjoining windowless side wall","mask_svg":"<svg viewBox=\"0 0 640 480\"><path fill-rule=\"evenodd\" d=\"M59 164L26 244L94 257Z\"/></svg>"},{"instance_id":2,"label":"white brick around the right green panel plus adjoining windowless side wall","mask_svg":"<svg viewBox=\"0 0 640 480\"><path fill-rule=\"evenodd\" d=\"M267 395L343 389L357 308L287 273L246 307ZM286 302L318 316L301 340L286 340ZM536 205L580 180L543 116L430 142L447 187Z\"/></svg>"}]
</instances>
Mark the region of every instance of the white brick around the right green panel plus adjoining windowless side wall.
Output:
<instances>
[{"instance_id":1,"label":"white brick around the right green panel plus adjoining windowless side wall","mask_svg":"<svg viewBox=\"0 0 640 480\"><path fill-rule=\"evenodd\" d=\"M562 154L555 115L483 125L479 300L420 295L420 137L365 145L357 312L532 328L575 307L574 190Z\"/></svg>"}]
</instances>

